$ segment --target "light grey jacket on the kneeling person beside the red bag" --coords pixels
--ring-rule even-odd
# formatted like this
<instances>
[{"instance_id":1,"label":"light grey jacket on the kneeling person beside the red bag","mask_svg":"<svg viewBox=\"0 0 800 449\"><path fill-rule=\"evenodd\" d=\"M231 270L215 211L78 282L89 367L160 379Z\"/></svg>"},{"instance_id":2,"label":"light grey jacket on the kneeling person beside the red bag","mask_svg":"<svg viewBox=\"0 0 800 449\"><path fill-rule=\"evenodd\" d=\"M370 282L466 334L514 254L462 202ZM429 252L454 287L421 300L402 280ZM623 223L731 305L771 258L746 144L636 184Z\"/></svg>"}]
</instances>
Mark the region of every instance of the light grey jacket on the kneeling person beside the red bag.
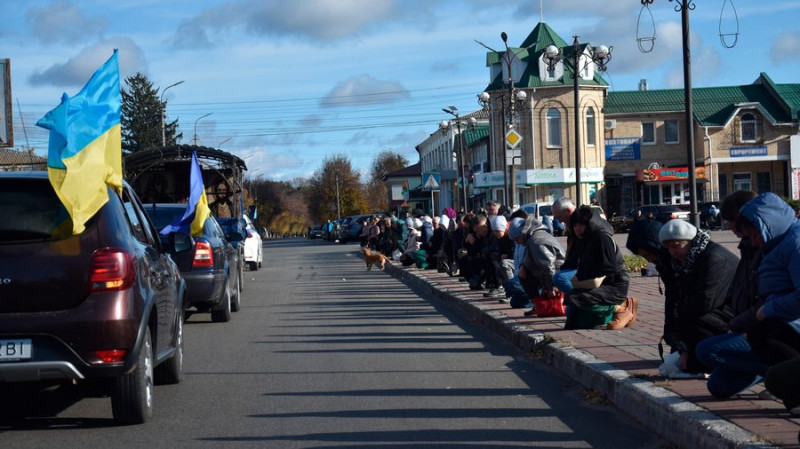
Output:
<instances>
[{"instance_id":1,"label":"light grey jacket on the kneeling person beside the red bag","mask_svg":"<svg viewBox=\"0 0 800 449\"><path fill-rule=\"evenodd\" d=\"M553 288L553 275L561 269L566 253L555 237L539 220L529 216L522 227L525 257L522 266L528 275L539 280L543 290Z\"/></svg>"}]
</instances>

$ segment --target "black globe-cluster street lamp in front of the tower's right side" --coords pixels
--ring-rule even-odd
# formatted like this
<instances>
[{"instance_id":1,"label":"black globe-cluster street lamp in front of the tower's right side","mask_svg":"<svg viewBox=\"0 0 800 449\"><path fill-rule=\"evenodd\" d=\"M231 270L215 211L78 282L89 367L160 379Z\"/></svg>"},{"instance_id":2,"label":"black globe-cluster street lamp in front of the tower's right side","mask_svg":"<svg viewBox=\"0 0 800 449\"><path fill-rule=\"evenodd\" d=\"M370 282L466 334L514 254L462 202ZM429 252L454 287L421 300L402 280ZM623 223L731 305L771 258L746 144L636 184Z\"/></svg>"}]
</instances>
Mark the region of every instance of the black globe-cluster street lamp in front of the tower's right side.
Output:
<instances>
[{"instance_id":1,"label":"black globe-cluster street lamp in front of the tower's right side","mask_svg":"<svg viewBox=\"0 0 800 449\"><path fill-rule=\"evenodd\" d=\"M572 102L575 104L575 204L581 205L581 116L580 116L580 96L579 96L579 78L582 72L589 63L593 62L597 65L597 70L601 72L606 71L606 64L611 60L611 51L614 47L606 47L599 45L597 47L588 47L589 60L581 67L581 44L578 41L578 35L573 36L572 41ZM552 71L555 65L565 59L561 49L555 45L548 45L544 49L544 61L547 63L547 70Z\"/></svg>"}]
</instances>

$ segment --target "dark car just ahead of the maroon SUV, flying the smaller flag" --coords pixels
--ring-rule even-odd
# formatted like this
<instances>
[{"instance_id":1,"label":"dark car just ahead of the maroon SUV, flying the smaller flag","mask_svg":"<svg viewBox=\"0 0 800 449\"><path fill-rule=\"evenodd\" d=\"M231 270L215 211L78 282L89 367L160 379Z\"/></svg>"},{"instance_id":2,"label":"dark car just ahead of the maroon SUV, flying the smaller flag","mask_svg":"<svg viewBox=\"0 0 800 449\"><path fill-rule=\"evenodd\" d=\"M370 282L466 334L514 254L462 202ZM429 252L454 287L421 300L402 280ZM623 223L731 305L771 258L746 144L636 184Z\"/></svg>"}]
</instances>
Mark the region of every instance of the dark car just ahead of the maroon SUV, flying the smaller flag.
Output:
<instances>
[{"instance_id":1,"label":"dark car just ahead of the maroon SUV, flying the smaller flag","mask_svg":"<svg viewBox=\"0 0 800 449\"><path fill-rule=\"evenodd\" d=\"M183 216L185 204L148 204L145 210L156 228L161 230ZM231 234L228 238L241 238ZM231 311L239 310L241 276L239 251L231 245L213 215L203 223L202 235L194 236L192 251L178 255L175 262L186 279L187 314L210 312L214 322L231 319Z\"/></svg>"}]
</instances>

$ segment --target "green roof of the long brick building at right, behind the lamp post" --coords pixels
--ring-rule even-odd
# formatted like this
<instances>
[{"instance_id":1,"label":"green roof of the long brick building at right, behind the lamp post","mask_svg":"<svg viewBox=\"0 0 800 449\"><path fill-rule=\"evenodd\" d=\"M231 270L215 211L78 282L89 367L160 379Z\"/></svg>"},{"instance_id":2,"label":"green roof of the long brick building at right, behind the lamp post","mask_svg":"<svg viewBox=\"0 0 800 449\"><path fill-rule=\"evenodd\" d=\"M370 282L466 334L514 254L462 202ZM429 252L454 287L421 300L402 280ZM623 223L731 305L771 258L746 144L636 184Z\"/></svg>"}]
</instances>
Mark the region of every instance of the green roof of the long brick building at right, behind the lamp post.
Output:
<instances>
[{"instance_id":1,"label":"green roof of the long brick building at right, behind the lamp post","mask_svg":"<svg viewBox=\"0 0 800 449\"><path fill-rule=\"evenodd\" d=\"M775 85L763 76L754 84L743 86L693 88L695 120L700 126L724 126L742 103L758 104L772 123L797 120L800 84ZM682 112L683 97L683 89L609 92L604 104L605 114Z\"/></svg>"}]
</instances>

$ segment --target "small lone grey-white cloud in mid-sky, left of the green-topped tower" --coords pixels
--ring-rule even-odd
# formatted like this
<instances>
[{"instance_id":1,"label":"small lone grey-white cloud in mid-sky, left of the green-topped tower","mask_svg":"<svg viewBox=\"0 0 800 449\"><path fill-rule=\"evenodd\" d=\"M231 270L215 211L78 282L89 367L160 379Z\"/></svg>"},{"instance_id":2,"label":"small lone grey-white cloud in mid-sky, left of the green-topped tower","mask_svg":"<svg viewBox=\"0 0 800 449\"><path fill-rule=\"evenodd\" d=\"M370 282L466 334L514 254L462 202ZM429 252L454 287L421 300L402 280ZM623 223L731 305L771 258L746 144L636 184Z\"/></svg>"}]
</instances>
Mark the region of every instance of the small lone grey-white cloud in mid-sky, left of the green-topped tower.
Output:
<instances>
[{"instance_id":1,"label":"small lone grey-white cloud in mid-sky, left of the green-topped tower","mask_svg":"<svg viewBox=\"0 0 800 449\"><path fill-rule=\"evenodd\" d=\"M377 80L362 74L337 84L320 104L324 107L366 106L394 103L410 96L408 90L398 81Z\"/></svg>"}]
</instances>

